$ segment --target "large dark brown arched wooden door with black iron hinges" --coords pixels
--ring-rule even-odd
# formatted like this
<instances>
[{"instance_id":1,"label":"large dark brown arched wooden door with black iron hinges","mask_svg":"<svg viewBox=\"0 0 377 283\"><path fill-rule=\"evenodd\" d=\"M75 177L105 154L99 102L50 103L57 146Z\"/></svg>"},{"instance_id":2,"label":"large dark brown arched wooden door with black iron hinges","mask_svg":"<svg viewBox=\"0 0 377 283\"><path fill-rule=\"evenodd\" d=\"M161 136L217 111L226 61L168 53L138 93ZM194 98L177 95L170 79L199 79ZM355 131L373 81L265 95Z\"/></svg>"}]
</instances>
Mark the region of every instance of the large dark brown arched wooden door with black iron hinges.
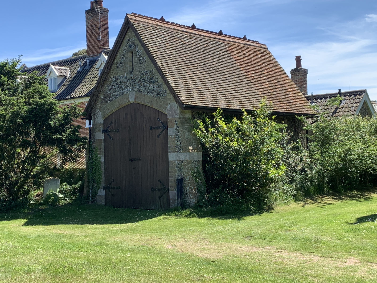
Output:
<instances>
[{"instance_id":1,"label":"large dark brown arched wooden door with black iron hinges","mask_svg":"<svg viewBox=\"0 0 377 283\"><path fill-rule=\"evenodd\" d=\"M169 208L167 115L131 103L104 120L105 202Z\"/></svg>"}]
</instances>

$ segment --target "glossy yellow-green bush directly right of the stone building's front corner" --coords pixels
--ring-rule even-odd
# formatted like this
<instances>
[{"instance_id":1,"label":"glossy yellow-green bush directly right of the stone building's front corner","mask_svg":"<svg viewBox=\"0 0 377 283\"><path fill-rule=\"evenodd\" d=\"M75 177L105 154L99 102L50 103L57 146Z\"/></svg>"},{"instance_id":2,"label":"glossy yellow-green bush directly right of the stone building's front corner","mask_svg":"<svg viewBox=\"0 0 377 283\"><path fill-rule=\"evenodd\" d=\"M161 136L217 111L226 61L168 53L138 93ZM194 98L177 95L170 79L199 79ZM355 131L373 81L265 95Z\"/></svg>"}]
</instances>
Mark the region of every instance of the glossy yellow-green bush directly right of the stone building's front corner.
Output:
<instances>
[{"instance_id":1,"label":"glossy yellow-green bush directly right of the stone building's front corner","mask_svg":"<svg viewBox=\"0 0 377 283\"><path fill-rule=\"evenodd\" d=\"M274 119L274 117L273 117ZM270 118L265 101L253 115L226 121L197 119L194 132L204 153L205 201L229 209L266 209L273 205L273 183L285 171L280 146L284 125Z\"/></svg>"}]
</instances>

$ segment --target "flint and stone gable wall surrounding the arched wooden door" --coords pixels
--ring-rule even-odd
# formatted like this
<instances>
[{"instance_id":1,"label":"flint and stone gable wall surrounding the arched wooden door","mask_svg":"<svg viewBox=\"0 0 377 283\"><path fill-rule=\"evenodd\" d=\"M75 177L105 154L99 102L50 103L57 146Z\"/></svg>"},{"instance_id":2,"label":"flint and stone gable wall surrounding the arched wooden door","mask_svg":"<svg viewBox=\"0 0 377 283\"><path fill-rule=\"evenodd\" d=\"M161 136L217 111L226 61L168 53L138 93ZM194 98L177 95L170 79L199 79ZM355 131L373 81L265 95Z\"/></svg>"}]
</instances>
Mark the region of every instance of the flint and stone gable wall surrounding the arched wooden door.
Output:
<instances>
[{"instance_id":1,"label":"flint and stone gable wall surrounding the arched wooden door","mask_svg":"<svg viewBox=\"0 0 377 283\"><path fill-rule=\"evenodd\" d=\"M170 206L177 204L177 179L183 179L184 203L193 205L197 191L192 172L196 167L202 169L202 153L192 134L192 112L184 111L178 106L131 30L127 32L107 77L92 113L92 138L101 157L102 172L103 120L129 103L153 107L166 113L168 117ZM104 182L104 173L102 180ZM104 204L102 189L98 192L97 202Z\"/></svg>"}]
</instances>

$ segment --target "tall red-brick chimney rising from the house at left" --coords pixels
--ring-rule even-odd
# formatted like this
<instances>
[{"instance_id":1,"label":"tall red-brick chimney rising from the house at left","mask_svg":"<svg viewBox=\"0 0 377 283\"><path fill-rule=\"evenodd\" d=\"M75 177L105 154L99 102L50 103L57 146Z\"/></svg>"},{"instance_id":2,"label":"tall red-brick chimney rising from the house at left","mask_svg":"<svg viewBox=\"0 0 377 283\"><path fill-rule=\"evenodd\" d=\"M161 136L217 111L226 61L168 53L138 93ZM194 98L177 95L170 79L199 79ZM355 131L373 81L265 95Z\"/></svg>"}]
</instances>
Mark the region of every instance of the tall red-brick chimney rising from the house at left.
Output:
<instances>
[{"instance_id":1,"label":"tall red-brick chimney rising from the house at left","mask_svg":"<svg viewBox=\"0 0 377 283\"><path fill-rule=\"evenodd\" d=\"M102 6L101 0L90 1L90 9L85 11L86 54L99 55L109 49L109 9Z\"/></svg>"}]
</instances>

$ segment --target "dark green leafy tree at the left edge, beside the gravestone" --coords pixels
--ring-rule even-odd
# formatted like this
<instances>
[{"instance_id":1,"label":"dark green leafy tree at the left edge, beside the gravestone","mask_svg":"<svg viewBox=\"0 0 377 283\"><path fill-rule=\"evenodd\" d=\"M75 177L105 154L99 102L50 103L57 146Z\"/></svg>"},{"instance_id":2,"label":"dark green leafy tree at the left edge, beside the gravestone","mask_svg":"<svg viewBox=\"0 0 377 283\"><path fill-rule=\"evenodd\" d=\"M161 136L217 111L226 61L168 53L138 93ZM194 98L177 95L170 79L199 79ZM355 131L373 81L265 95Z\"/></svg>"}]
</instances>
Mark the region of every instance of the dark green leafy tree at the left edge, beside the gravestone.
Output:
<instances>
[{"instance_id":1,"label":"dark green leafy tree at the left edge, beside the gravestone","mask_svg":"<svg viewBox=\"0 0 377 283\"><path fill-rule=\"evenodd\" d=\"M86 138L76 106L59 107L42 77L20 73L21 60L0 62L0 209L28 200L54 166L51 157L75 161Z\"/></svg>"}]
</instances>

